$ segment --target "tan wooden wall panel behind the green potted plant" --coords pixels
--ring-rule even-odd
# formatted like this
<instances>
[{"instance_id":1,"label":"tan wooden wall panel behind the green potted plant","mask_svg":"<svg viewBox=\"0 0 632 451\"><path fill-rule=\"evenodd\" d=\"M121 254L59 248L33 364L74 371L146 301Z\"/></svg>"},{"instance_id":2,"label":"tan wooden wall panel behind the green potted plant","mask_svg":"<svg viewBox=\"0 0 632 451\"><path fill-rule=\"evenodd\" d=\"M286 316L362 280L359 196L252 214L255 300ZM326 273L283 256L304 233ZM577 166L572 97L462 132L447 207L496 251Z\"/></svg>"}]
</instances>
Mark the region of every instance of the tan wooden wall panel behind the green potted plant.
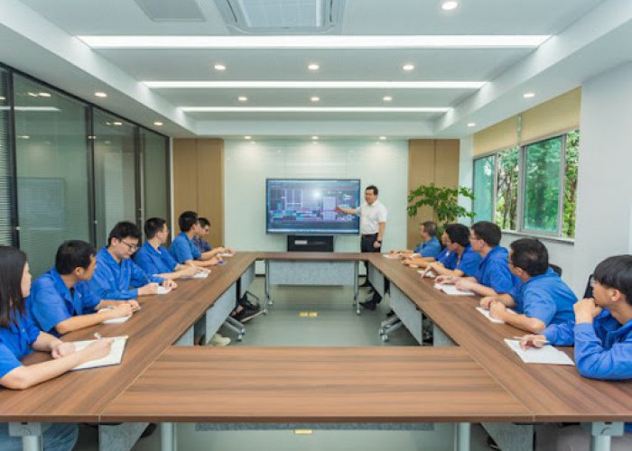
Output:
<instances>
[{"instance_id":1,"label":"tan wooden wall panel behind the green potted plant","mask_svg":"<svg viewBox=\"0 0 632 451\"><path fill-rule=\"evenodd\" d=\"M459 140L410 140L408 142L408 189L434 183L456 187L459 184ZM419 244L419 223L436 220L431 207L422 207L417 216L409 217L406 247Z\"/></svg>"}]
</instances>

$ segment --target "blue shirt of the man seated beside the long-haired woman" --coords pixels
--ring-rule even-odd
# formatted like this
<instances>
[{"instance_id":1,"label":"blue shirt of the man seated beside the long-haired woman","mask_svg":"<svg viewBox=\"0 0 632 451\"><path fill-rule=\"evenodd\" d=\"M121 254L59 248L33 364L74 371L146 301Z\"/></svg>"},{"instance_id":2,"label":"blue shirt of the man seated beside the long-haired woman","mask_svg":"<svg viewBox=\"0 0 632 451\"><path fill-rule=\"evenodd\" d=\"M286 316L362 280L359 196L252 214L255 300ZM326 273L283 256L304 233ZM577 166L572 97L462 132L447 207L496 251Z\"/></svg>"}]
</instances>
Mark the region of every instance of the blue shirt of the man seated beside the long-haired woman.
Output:
<instances>
[{"instance_id":1,"label":"blue shirt of the man seated beside the long-haired woman","mask_svg":"<svg viewBox=\"0 0 632 451\"><path fill-rule=\"evenodd\" d=\"M88 282L80 281L70 293L55 268L45 272L33 282L31 296L26 302L35 326L44 332L59 336L55 327L68 318L94 313L101 299Z\"/></svg>"}]
</instances>

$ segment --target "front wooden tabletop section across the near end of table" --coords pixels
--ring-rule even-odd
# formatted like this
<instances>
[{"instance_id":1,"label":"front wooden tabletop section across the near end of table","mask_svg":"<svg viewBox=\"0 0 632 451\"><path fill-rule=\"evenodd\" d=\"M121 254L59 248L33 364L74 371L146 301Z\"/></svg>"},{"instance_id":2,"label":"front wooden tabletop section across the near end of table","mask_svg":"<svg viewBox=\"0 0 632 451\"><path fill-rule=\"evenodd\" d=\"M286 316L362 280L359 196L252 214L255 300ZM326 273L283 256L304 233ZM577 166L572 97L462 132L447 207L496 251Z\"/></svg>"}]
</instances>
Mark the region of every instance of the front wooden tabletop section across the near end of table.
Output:
<instances>
[{"instance_id":1,"label":"front wooden tabletop section across the near end of table","mask_svg":"<svg viewBox=\"0 0 632 451\"><path fill-rule=\"evenodd\" d=\"M102 421L529 421L459 348L172 347Z\"/></svg>"}]
</instances>

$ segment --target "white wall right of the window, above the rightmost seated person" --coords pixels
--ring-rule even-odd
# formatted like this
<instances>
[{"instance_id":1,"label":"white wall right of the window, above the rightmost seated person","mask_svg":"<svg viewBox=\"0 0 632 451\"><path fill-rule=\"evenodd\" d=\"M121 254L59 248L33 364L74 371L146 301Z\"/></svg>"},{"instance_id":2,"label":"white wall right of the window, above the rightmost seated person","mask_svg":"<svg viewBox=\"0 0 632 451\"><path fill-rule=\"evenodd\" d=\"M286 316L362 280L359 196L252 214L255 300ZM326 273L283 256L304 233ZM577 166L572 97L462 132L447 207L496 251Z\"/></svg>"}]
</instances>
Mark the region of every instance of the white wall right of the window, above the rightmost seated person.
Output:
<instances>
[{"instance_id":1,"label":"white wall right of the window, above the rightmost seated person","mask_svg":"<svg viewBox=\"0 0 632 451\"><path fill-rule=\"evenodd\" d=\"M632 63L581 89L573 289L596 263L632 250Z\"/></svg>"}]
</instances>

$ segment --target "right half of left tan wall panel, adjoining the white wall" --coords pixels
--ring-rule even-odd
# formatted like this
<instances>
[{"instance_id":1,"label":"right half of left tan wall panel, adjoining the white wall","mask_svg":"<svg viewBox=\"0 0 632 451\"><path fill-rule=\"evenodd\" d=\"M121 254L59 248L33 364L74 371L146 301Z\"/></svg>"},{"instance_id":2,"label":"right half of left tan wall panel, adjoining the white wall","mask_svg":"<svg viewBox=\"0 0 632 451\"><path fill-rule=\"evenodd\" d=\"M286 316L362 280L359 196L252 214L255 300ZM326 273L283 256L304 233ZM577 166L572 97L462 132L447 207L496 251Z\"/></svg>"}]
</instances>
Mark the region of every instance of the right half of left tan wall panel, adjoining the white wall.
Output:
<instances>
[{"instance_id":1,"label":"right half of left tan wall panel, adjoining the white wall","mask_svg":"<svg viewBox=\"0 0 632 451\"><path fill-rule=\"evenodd\" d=\"M198 214L210 219L209 243L224 244L223 140L198 140Z\"/></svg>"}]
</instances>

